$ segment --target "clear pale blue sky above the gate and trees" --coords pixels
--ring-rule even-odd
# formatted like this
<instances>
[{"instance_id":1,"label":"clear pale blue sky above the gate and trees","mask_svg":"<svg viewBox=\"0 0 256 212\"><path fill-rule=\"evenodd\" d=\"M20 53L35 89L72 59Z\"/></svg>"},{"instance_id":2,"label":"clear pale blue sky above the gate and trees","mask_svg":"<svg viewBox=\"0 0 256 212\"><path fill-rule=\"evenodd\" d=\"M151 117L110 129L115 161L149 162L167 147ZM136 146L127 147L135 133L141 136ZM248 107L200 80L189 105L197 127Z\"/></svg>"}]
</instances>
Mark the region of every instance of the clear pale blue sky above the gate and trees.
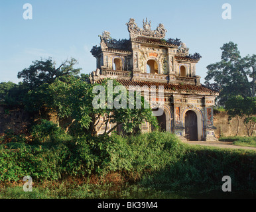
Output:
<instances>
[{"instance_id":1,"label":"clear pale blue sky above the gate and trees","mask_svg":"<svg viewBox=\"0 0 256 212\"><path fill-rule=\"evenodd\" d=\"M32 5L32 20L23 19L25 3ZM231 5L231 20L222 19L224 3ZM256 54L255 0L1 0L0 82L18 83L18 72L49 56L57 64L76 58L81 73L89 74L96 70L90 50L99 46L98 35L107 30L112 38L129 38L129 19L142 27L146 17L151 28L162 23L166 38L180 38L190 54L202 55L196 66L202 82L206 66L220 61L224 43L238 44L241 56Z\"/></svg>"}]
</instances>

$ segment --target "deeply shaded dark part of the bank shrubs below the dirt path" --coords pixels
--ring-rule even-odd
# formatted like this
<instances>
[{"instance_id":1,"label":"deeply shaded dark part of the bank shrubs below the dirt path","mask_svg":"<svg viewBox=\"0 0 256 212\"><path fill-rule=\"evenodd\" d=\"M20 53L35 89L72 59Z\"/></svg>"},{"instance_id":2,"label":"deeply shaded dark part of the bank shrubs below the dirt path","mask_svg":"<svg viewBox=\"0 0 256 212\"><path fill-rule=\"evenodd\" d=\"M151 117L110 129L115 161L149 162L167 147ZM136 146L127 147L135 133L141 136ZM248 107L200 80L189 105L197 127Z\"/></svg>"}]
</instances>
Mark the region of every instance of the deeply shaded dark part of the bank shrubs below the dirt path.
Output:
<instances>
[{"instance_id":1,"label":"deeply shaded dark part of the bank shrubs below the dirt path","mask_svg":"<svg viewBox=\"0 0 256 212\"><path fill-rule=\"evenodd\" d=\"M144 175L144 186L168 186L172 189L214 187L221 189L222 178L230 176L232 186L238 189L256 189L256 154L245 150L184 146L184 154L170 166Z\"/></svg>"}]
</instances>

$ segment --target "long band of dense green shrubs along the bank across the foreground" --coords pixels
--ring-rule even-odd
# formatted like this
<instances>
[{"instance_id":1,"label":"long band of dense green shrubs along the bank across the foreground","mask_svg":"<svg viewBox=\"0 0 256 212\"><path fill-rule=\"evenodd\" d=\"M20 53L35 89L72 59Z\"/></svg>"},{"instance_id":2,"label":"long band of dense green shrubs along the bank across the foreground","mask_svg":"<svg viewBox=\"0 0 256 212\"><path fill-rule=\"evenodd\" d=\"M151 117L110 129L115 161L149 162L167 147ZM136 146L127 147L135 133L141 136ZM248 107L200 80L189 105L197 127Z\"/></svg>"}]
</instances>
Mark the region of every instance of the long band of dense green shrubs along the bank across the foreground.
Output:
<instances>
[{"instance_id":1,"label":"long band of dense green shrubs along the bank across the foreground","mask_svg":"<svg viewBox=\"0 0 256 212\"><path fill-rule=\"evenodd\" d=\"M256 188L254 152L186 146L167 132L65 139L60 135L42 133L54 142L42 143L35 135L34 144L2 144L0 180L21 180L27 175L34 181L63 180L119 173L145 186L178 188L222 185L222 177L227 175L237 189Z\"/></svg>"}]
</instances>

